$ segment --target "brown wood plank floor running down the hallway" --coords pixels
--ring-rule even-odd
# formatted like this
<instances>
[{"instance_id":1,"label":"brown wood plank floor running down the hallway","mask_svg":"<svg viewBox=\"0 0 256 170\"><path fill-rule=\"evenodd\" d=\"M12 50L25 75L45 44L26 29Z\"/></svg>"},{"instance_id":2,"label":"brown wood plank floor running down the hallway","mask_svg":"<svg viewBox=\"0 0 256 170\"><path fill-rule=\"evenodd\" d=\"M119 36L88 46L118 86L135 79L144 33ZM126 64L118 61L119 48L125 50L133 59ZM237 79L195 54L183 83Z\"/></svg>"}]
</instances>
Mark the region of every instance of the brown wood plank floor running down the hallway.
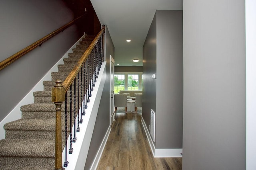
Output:
<instances>
[{"instance_id":1,"label":"brown wood plank floor running down the hallway","mask_svg":"<svg viewBox=\"0 0 256 170\"><path fill-rule=\"evenodd\" d=\"M182 158L154 158L141 113L117 113L97 170L182 170Z\"/></svg>"}]
</instances>

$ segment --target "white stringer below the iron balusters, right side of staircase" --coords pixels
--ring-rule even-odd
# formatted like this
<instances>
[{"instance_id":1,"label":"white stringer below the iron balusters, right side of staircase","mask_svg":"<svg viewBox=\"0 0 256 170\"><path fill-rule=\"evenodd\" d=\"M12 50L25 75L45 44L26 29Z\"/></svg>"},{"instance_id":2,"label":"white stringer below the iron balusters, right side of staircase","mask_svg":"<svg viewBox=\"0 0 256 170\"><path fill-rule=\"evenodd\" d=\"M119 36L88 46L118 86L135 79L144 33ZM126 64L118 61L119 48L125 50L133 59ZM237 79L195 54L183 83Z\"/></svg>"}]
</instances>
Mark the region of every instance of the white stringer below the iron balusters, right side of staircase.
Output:
<instances>
[{"instance_id":1,"label":"white stringer below the iron balusters, right side of staircase","mask_svg":"<svg viewBox=\"0 0 256 170\"><path fill-rule=\"evenodd\" d=\"M105 80L106 80L106 61L102 63L102 68L100 74L98 75L96 86L90 97L90 102L87 103L87 109L85 109L85 115L83 116L83 123L79 124L80 132L76 133L76 143L72 143L72 148L74 149L72 154L68 154L68 167L65 167L65 170L84 170L86 163L92 133L94 130L94 125L96 123L96 117L98 114L98 108L100 106L100 99L102 96ZM98 84L98 82L100 82ZM80 114L79 109L79 114ZM77 117L76 117L77 121ZM74 128L72 128L74 131ZM68 137L70 139L70 136ZM68 145L68 150L70 145ZM62 162L65 162L65 150L62 152Z\"/></svg>"}]
</instances>

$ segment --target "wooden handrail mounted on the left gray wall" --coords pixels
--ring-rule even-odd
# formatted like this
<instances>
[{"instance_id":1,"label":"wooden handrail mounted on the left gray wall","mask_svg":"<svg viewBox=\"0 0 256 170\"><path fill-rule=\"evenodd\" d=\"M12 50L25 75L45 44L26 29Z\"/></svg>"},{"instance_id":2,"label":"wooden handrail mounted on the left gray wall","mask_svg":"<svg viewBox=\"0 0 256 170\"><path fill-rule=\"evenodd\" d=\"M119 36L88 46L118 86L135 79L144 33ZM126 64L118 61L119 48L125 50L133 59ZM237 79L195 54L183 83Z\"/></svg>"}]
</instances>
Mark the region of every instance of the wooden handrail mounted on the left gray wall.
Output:
<instances>
[{"instance_id":1,"label":"wooden handrail mounted on the left gray wall","mask_svg":"<svg viewBox=\"0 0 256 170\"><path fill-rule=\"evenodd\" d=\"M52 33L46 35L45 37L39 39L38 41L32 43L31 45L29 45L28 47L20 50L18 53L15 53L14 55L12 55L11 57L8 57L7 59L3 60L0 62L0 70L2 70L3 68L5 68L6 66L8 66L9 64L13 63L14 61L16 61L17 59L19 59L20 57L22 57L23 55L25 55L26 53L28 53L29 51L32 51L33 49L35 49L36 47L42 45L42 43L44 43L45 41L47 41L48 39L54 37L54 35L57 35L58 33L60 33L61 31L63 31L64 29L70 27L71 25L74 24L74 22L76 20L79 20L80 18L82 18L85 14L83 14L82 16L70 21L69 23L66 23L65 25L63 25L62 27L60 27L59 29L56 29L55 31L53 31Z\"/></svg>"}]
</instances>

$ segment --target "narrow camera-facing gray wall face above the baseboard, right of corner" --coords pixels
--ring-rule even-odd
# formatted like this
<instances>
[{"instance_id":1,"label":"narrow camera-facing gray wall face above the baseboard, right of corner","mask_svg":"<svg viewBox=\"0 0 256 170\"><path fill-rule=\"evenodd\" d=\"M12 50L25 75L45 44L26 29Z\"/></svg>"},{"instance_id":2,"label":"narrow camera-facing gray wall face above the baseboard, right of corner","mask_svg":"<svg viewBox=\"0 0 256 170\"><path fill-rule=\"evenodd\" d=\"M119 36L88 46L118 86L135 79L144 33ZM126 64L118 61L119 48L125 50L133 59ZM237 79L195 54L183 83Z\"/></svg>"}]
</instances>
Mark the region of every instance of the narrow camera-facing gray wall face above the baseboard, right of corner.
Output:
<instances>
[{"instance_id":1,"label":"narrow camera-facing gray wall face above the baseboard, right of corner","mask_svg":"<svg viewBox=\"0 0 256 170\"><path fill-rule=\"evenodd\" d=\"M182 148L182 11L156 11L156 148Z\"/></svg>"}]
</instances>

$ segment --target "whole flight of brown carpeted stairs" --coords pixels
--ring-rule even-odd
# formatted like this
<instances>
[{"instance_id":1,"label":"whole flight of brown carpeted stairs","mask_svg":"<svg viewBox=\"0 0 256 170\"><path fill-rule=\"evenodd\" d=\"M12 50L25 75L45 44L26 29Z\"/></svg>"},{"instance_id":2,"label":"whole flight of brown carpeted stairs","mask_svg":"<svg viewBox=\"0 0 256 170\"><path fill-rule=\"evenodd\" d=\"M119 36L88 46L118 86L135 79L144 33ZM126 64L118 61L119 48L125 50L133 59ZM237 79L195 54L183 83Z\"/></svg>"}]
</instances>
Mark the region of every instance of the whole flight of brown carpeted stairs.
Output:
<instances>
[{"instance_id":1,"label":"whole flight of brown carpeted stairs","mask_svg":"<svg viewBox=\"0 0 256 170\"><path fill-rule=\"evenodd\" d=\"M4 125L6 136L0 140L1 170L54 169L56 111L51 90L56 80L65 80L93 39L94 36L82 39L64 59L64 64L58 65L58 72L51 73L52 80L43 82L44 91L33 93L34 103L20 107L22 118ZM64 121L62 112L62 149Z\"/></svg>"}]
</instances>

